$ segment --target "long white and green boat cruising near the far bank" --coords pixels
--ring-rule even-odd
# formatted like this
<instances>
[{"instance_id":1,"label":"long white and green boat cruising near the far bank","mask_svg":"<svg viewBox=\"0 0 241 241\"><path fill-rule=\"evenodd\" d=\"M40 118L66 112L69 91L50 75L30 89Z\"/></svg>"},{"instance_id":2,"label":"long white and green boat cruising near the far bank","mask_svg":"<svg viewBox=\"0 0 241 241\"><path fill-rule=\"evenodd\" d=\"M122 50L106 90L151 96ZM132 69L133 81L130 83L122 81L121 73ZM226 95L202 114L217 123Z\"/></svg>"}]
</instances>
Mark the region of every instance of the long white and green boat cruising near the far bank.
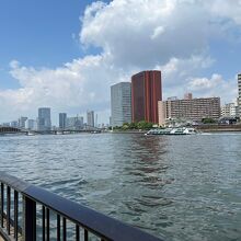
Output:
<instances>
[{"instance_id":1,"label":"long white and green boat cruising near the far bank","mask_svg":"<svg viewBox=\"0 0 241 241\"><path fill-rule=\"evenodd\" d=\"M150 129L145 135L194 135L197 134L195 128L191 127L177 127L177 128L164 128L164 129Z\"/></svg>"}]
</instances>

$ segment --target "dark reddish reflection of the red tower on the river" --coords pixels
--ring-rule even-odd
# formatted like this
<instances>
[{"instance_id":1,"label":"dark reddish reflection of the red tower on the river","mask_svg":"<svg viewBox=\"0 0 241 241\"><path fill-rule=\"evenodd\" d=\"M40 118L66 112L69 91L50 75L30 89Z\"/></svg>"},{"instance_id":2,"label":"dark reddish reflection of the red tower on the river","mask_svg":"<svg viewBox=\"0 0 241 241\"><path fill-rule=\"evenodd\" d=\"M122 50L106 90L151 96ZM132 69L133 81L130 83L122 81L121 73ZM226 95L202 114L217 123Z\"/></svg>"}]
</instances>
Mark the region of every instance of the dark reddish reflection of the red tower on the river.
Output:
<instances>
[{"instance_id":1,"label":"dark reddish reflection of the red tower on the river","mask_svg":"<svg viewBox=\"0 0 241 241\"><path fill-rule=\"evenodd\" d=\"M160 137L133 136L129 140L130 156L123 169L130 176L138 176L136 182L150 188L161 188L170 184L173 179L167 180L170 163L164 157L168 152L168 140ZM125 150L124 150L125 151Z\"/></svg>"}]
</instances>

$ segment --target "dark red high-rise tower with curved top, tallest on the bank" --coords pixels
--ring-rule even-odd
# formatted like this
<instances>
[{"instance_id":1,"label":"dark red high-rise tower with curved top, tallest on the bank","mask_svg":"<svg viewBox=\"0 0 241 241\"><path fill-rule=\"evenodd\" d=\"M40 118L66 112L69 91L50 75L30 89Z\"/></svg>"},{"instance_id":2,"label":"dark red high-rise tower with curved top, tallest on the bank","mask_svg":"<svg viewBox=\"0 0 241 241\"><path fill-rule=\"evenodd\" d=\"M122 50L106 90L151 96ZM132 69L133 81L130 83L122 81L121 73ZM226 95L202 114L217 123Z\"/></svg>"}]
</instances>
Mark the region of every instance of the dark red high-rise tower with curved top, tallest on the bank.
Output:
<instances>
[{"instance_id":1,"label":"dark red high-rise tower with curved top, tallest on the bank","mask_svg":"<svg viewBox=\"0 0 241 241\"><path fill-rule=\"evenodd\" d=\"M142 71L131 77L133 122L158 124L158 101L161 100L161 71Z\"/></svg>"}]
</instances>

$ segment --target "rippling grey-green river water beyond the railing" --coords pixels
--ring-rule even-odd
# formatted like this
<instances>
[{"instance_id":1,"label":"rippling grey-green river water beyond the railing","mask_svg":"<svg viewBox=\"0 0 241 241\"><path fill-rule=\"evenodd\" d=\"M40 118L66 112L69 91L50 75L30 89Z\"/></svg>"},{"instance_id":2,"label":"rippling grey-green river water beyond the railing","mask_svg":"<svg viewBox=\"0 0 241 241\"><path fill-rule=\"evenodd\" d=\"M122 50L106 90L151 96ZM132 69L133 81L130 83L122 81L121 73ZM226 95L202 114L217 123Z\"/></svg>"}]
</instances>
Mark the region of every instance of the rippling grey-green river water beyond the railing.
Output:
<instances>
[{"instance_id":1,"label":"rippling grey-green river water beyond the railing","mask_svg":"<svg viewBox=\"0 0 241 241\"><path fill-rule=\"evenodd\" d=\"M241 135L0 137L0 170L165 240L241 240Z\"/></svg>"}]
</instances>

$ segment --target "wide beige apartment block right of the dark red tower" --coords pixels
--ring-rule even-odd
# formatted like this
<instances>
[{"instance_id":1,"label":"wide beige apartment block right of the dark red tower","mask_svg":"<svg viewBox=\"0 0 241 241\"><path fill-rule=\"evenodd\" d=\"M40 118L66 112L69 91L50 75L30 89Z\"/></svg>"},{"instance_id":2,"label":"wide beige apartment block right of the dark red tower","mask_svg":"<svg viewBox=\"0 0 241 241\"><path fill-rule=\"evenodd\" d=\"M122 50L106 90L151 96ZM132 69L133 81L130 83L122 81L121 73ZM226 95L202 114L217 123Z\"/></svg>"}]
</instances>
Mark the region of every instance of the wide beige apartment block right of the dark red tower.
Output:
<instances>
[{"instance_id":1,"label":"wide beige apartment block right of the dark red tower","mask_svg":"<svg viewBox=\"0 0 241 241\"><path fill-rule=\"evenodd\" d=\"M163 125L170 118L200 122L207 117L220 117L220 97L159 101L158 106L159 125Z\"/></svg>"}]
</instances>

